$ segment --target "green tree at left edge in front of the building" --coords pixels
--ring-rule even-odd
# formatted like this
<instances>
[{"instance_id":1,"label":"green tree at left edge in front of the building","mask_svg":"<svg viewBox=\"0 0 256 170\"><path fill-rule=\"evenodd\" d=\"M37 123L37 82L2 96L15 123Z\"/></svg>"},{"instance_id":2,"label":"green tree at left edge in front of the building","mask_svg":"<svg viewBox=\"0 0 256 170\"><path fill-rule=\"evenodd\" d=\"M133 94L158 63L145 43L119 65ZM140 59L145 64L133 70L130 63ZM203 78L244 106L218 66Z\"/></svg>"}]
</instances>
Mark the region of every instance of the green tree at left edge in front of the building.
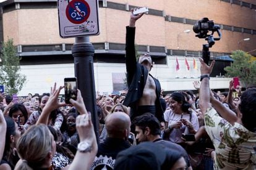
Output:
<instances>
[{"instance_id":1,"label":"green tree at left edge in front of the building","mask_svg":"<svg viewBox=\"0 0 256 170\"><path fill-rule=\"evenodd\" d=\"M25 75L20 73L20 59L17 57L13 39L2 44L0 67L0 84L4 85L7 94L17 94L26 81Z\"/></svg>"}]
</instances>

